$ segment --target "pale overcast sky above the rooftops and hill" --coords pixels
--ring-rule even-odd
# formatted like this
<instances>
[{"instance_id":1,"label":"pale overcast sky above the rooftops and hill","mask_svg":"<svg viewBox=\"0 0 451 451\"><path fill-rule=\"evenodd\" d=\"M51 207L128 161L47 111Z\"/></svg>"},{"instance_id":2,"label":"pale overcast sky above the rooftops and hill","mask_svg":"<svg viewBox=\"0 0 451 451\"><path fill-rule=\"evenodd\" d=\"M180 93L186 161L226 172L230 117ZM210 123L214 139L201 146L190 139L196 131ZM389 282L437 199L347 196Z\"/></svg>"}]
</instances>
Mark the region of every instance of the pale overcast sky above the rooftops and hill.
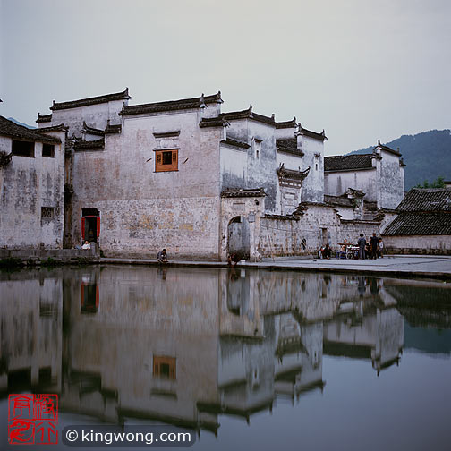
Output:
<instances>
[{"instance_id":1,"label":"pale overcast sky above the rooftops and hill","mask_svg":"<svg viewBox=\"0 0 451 451\"><path fill-rule=\"evenodd\" d=\"M0 0L0 33L0 115L31 125L128 86L295 115L327 155L451 128L450 0Z\"/></svg>"}]
</instances>

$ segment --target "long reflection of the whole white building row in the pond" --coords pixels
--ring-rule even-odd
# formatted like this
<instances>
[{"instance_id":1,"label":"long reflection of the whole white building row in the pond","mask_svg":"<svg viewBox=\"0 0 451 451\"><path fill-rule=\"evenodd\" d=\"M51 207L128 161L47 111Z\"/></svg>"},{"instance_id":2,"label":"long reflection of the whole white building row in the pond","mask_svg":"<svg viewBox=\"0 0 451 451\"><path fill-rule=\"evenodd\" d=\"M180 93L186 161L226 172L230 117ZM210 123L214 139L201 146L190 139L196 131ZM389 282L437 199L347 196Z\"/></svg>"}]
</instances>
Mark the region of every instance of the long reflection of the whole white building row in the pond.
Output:
<instances>
[{"instance_id":1,"label":"long reflection of the whole white building row in the pond","mask_svg":"<svg viewBox=\"0 0 451 451\"><path fill-rule=\"evenodd\" d=\"M371 280L359 291L356 277L188 268L14 277L0 280L2 302L14 305L1 313L4 389L18 369L43 387L36 374L50 368L62 409L108 422L216 431L220 414L249 420L322 389L323 339L326 352L334 340L368 346L376 367L402 346L393 299Z\"/></svg>"}]
</instances>

